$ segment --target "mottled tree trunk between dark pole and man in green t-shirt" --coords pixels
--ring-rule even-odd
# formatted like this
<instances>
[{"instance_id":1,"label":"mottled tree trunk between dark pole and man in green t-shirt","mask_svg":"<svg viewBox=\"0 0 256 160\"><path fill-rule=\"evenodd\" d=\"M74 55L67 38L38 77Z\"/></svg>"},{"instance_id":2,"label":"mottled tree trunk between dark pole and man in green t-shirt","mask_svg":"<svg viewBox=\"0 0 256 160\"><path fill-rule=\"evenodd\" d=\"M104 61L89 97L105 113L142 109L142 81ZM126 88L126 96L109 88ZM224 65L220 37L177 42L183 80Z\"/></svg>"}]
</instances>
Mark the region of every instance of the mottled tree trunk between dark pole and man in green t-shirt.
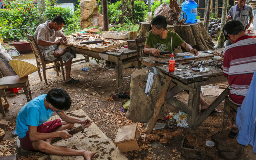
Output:
<instances>
[{"instance_id":1,"label":"mottled tree trunk between dark pole and man in green t-shirt","mask_svg":"<svg viewBox=\"0 0 256 160\"><path fill-rule=\"evenodd\" d=\"M124 17L129 18L132 16L132 0L122 0L119 10L122 10L122 15L119 16L119 20L116 23L125 23Z\"/></svg>"}]
</instances>

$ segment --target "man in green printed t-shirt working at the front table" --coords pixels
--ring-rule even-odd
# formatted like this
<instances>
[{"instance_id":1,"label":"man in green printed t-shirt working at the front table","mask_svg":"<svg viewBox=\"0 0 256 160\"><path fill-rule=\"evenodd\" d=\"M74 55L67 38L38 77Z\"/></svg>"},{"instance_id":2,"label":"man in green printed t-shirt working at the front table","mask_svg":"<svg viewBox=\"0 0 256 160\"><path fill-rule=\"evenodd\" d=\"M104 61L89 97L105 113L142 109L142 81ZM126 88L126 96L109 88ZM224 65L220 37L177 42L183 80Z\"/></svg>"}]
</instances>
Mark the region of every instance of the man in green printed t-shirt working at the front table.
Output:
<instances>
[{"instance_id":1,"label":"man in green printed t-shirt working at the front table","mask_svg":"<svg viewBox=\"0 0 256 160\"><path fill-rule=\"evenodd\" d=\"M154 56L160 56L159 52L162 51L174 51L176 46L182 46L186 51L190 53L198 54L198 51L180 38L178 34L172 31L166 30L167 20L164 16L156 16L151 21L152 30L148 32L148 36L145 42L144 52L146 54L152 54ZM171 49L171 36L172 36L172 49Z\"/></svg>"}]
</instances>

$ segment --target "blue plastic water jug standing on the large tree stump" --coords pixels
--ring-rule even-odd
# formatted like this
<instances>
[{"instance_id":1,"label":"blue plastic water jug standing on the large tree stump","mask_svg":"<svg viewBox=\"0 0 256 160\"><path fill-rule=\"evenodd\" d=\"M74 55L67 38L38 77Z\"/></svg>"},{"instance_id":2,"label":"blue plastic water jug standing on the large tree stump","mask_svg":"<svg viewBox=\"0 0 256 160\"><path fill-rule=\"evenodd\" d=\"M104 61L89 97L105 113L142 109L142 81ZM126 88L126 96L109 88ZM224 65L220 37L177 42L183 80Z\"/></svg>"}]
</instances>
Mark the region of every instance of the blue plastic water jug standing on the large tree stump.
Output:
<instances>
[{"instance_id":1,"label":"blue plastic water jug standing on the large tree stump","mask_svg":"<svg viewBox=\"0 0 256 160\"><path fill-rule=\"evenodd\" d=\"M185 23L196 23L197 3L194 0L186 0L182 3L182 10L187 14Z\"/></svg>"}]
</instances>

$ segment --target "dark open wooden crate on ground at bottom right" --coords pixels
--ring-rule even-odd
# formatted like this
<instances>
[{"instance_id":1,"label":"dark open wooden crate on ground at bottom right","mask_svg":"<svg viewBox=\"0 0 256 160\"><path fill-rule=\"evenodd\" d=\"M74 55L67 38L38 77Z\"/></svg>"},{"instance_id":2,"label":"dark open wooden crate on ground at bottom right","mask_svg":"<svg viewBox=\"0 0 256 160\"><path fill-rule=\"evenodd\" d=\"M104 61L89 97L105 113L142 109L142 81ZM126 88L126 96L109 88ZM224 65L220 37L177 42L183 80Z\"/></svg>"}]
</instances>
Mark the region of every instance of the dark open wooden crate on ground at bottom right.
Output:
<instances>
[{"instance_id":1,"label":"dark open wooden crate on ground at bottom right","mask_svg":"<svg viewBox=\"0 0 256 160\"><path fill-rule=\"evenodd\" d=\"M200 139L202 140L202 138ZM197 147L198 143L200 143L200 140L198 139L198 136L196 136L195 146L190 147L187 145L188 140L184 137L181 144L181 155L189 158L204 159L205 139L203 138L203 140L204 140L204 145Z\"/></svg>"}]
</instances>

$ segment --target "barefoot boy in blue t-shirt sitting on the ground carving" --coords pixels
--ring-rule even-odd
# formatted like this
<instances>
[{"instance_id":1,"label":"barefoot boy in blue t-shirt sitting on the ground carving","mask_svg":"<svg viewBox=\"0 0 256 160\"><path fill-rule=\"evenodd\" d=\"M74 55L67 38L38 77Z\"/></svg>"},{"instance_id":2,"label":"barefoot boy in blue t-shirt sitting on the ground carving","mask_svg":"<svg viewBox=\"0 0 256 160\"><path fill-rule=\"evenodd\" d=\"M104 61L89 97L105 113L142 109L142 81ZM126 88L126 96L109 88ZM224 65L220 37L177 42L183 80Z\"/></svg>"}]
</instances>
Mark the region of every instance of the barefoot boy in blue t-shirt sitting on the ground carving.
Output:
<instances>
[{"instance_id":1,"label":"barefoot boy in blue t-shirt sitting on the ground carving","mask_svg":"<svg viewBox=\"0 0 256 160\"><path fill-rule=\"evenodd\" d=\"M47 154L61 156L83 156L90 160L94 153L86 150L74 150L63 146L52 146L51 140L56 137L71 138L68 129L75 123L83 124L86 128L92 121L80 120L66 115L63 110L68 110L71 100L68 93L61 88L54 88L28 102L17 116L16 134L19 136L20 145L25 150L39 150ZM46 122L53 112L57 112L61 119Z\"/></svg>"}]
</instances>

